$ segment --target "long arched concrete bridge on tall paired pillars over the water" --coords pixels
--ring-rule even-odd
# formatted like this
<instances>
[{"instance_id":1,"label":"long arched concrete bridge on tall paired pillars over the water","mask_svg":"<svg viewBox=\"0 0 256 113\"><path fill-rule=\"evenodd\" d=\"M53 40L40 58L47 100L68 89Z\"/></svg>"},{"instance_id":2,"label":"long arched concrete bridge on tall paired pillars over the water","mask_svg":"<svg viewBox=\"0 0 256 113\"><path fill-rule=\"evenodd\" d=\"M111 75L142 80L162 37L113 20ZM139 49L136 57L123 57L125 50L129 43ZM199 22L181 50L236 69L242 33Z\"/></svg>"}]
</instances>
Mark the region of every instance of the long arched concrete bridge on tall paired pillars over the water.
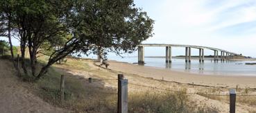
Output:
<instances>
[{"instance_id":1,"label":"long arched concrete bridge on tall paired pillars over the water","mask_svg":"<svg viewBox=\"0 0 256 113\"><path fill-rule=\"evenodd\" d=\"M214 62L218 62L219 60L230 60L235 58L237 53L225 51L223 49L216 49L208 46L194 46L194 45L185 45L185 44L140 44L138 45L138 63L144 64L144 47L145 46L165 46L166 47L166 62L171 63L171 49L172 47L185 47L185 62L191 62L191 48L199 50L199 62L204 62L205 55L204 50L210 49L214 51ZM221 55L219 55L221 52Z\"/></svg>"}]
</instances>

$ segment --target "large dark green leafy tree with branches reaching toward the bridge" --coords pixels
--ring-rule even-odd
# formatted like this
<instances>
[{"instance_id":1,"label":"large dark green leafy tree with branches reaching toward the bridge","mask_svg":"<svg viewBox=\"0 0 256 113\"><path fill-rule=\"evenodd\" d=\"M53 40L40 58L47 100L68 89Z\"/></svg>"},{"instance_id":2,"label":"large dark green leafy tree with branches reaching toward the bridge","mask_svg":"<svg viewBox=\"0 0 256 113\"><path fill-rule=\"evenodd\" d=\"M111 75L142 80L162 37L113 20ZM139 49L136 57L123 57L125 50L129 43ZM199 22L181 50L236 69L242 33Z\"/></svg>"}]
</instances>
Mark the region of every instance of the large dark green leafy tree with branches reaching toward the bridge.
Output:
<instances>
[{"instance_id":1,"label":"large dark green leafy tree with branches reaching toward the bridge","mask_svg":"<svg viewBox=\"0 0 256 113\"><path fill-rule=\"evenodd\" d=\"M96 53L99 47L117 54L130 53L152 35L153 20L136 8L133 0L12 1L22 55L28 46L31 73L36 80L71 53ZM36 73L42 49L51 52L47 53L46 65Z\"/></svg>"}]
</instances>

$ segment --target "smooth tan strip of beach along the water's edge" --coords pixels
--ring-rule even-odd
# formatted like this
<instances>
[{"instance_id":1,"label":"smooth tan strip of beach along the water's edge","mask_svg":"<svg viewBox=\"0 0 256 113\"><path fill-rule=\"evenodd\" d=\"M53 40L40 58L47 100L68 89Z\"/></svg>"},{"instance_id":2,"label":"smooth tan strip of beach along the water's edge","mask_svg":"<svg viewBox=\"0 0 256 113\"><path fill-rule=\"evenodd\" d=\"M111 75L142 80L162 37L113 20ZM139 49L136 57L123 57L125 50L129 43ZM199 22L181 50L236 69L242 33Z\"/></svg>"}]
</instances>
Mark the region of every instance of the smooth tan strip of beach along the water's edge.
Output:
<instances>
[{"instance_id":1,"label":"smooth tan strip of beach along the water's edge","mask_svg":"<svg viewBox=\"0 0 256 113\"><path fill-rule=\"evenodd\" d=\"M175 81L181 83L193 83L195 85L207 85L214 87L234 88L239 85L240 88L256 88L256 77L253 76L215 76L203 75L197 73L188 73L173 71L171 69L162 69L157 67L145 67L137 64L128 64L124 62L110 62L110 69L125 73L133 73L139 76L154 78L157 80Z\"/></svg>"}]
</instances>

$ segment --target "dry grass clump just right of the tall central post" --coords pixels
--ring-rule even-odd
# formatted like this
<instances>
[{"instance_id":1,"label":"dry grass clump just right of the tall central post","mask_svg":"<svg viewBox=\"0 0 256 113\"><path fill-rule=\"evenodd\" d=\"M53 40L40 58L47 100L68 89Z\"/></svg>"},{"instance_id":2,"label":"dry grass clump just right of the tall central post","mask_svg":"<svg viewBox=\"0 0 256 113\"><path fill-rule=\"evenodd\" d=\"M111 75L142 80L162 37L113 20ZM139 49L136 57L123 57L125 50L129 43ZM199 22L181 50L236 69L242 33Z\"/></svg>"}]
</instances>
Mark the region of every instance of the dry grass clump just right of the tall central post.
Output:
<instances>
[{"instance_id":1,"label":"dry grass clump just right of the tall central post","mask_svg":"<svg viewBox=\"0 0 256 113\"><path fill-rule=\"evenodd\" d=\"M128 98L129 112L189 112L184 92L137 92Z\"/></svg>"}]
</instances>

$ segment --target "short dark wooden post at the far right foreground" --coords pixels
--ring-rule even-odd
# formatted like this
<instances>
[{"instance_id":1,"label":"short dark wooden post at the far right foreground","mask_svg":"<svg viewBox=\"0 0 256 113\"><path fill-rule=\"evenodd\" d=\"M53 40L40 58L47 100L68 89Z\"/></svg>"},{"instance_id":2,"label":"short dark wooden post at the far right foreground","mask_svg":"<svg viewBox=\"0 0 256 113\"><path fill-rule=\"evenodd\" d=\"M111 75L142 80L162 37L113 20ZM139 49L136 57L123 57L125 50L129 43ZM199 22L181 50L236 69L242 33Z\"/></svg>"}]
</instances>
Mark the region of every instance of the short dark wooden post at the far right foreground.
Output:
<instances>
[{"instance_id":1,"label":"short dark wooden post at the far right foreground","mask_svg":"<svg viewBox=\"0 0 256 113\"><path fill-rule=\"evenodd\" d=\"M234 89L230 89L230 113L236 112L236 92Z\"/></svg>"}]
</instances>

